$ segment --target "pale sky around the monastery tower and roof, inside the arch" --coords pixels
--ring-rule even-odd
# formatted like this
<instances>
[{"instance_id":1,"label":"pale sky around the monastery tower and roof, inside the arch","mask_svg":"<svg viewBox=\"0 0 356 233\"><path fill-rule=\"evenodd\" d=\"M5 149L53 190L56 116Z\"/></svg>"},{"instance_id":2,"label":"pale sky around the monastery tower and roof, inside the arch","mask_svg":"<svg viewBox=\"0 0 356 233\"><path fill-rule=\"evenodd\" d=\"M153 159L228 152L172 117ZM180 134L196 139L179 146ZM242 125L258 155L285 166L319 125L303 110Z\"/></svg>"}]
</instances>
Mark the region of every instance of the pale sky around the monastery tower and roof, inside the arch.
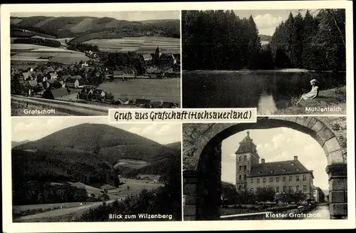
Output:
<instances>
[{"instance_id":1,"label":"pale sky around the monastery tower and roof, inside the arch","mask_svg":"<svg viewBox=\"0 0 356 233\"><path fill-rule=\"evenodd\" d=\"M256 145L261 159L266 162L298 160L308 169L313 170L313 185L328 190L328 174L325 168L328 162L323 148L310 135L290 128L271 128L261 130L244 130L231 135L221 143L221 180L236 183L236 155L239 143L250 132L250 138Z\"/></svg>"}]
</instances>

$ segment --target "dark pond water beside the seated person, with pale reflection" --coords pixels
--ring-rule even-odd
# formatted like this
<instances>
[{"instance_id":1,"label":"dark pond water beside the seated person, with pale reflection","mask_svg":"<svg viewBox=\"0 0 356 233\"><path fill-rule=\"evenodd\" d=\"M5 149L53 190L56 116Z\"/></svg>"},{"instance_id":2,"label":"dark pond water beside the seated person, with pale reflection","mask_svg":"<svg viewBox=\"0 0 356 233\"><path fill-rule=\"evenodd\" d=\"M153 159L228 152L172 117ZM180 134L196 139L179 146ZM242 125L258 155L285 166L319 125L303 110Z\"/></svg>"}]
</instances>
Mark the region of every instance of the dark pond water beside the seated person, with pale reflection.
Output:
<instances>
[{"instance_id":1,"label":"dark pond water beside the seated person, with pale reflection","mask_svg":"<svg viewBox=\"0 0 356 233\"><path fill-rule=\"evenodd\" d=\"M257 108L271 114L290 105L311 90L310 80L320 90L344 86L346 73L281 71L184 71L184 108Z\"/></svg>"}]
</instances>

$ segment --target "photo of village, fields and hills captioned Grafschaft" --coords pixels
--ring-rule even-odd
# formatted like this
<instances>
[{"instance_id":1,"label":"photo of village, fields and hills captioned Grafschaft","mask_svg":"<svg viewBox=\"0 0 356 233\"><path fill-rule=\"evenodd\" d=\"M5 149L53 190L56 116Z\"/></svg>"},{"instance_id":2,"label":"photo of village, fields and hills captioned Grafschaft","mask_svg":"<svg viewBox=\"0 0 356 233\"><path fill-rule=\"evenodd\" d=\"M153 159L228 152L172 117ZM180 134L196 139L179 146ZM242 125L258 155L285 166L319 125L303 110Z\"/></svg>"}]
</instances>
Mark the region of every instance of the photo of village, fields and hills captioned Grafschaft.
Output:
<instances>
[{"instance_id":1,"label":"photo of village, fields and hills captioned Grafschaft","mask_svg":"<svg viewBox=\"0 0 356 233\"><path fill-rule=\"evenodd\" d=\"M180 108L179 11L11 13L11 115Z\"/></svg>"}]
</instances>

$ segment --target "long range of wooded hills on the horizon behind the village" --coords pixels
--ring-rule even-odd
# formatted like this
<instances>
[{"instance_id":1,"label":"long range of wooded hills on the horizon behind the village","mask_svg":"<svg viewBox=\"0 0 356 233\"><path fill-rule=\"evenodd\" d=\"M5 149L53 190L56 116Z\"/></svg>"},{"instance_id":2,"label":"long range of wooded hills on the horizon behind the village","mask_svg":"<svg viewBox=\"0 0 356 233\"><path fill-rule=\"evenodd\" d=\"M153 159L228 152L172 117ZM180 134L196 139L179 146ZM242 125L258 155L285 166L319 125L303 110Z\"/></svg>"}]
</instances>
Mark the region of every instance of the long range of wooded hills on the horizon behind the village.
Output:
<instances>
[{"instance_id":1,"label":"long range of wooded hills on the horizon behind the village","mask_svg":"<svg viewBox=\"0 0 356 233\"><path fill-rule=\"evenodd\" d=\"M103 17L11 17L11 36L26 36L16 29L26 29L32 33L41 33L56 38L73 38L83 34L100 33L103 31L117 32L132 35L147 35L147 33L158 34L164 37L179 38L179 20L155 20L155 21L125 21L114 18ZM28 32L30 33L30 32ZM112 35L111 36L115 36Z\"/></svg>"}]
</instances>

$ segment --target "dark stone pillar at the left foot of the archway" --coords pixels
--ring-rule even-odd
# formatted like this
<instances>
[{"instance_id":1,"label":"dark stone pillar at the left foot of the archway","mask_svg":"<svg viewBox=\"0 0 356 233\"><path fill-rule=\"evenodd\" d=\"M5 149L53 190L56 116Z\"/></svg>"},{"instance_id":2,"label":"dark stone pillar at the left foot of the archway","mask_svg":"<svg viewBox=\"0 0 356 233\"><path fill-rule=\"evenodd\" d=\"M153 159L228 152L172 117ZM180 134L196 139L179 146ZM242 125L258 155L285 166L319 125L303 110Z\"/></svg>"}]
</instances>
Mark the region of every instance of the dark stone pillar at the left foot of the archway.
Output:
<instances>
[{"instance_id":1,"label":"dark stone pillar at the left foot of the archway","mask_svg":"<svg viewBox=\"0 0 356 233\"><path fill-rule=\"evenodd\" d=\"M184 221L195 220L197 204L197 172L183 172L183 215Z\"/></svg>"}]
</instances>

